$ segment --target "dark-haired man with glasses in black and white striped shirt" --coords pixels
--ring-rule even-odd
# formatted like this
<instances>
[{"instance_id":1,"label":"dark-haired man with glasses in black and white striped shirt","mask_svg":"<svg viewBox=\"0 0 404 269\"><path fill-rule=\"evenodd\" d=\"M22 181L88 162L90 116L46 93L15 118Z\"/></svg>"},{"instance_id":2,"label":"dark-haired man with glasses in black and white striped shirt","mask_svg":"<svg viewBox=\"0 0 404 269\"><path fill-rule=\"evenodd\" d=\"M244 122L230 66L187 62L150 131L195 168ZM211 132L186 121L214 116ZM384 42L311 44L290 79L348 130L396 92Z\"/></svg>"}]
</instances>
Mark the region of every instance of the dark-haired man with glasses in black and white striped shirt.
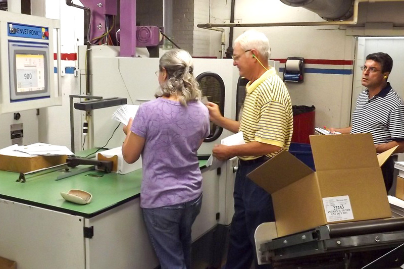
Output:
<instances>
[{"instance_id":1,"label":"dark-haired man with glasses in black and white striped shirt","mask_svg":"<svg viewBox=\"0 0 404 269\"><path fill-rule=\"evenodd\" d=\"M383 52L366 57L362 67L362 85L352 114L352 126L342 129L330 128L343 134L371 133L376 152L381 153L398 145L394 153L404 152L404 103L387 82L393 67L391 57ZM394 161L390 156L381 167L387 192L393 184Z\"/></svg>"}]
</instances>

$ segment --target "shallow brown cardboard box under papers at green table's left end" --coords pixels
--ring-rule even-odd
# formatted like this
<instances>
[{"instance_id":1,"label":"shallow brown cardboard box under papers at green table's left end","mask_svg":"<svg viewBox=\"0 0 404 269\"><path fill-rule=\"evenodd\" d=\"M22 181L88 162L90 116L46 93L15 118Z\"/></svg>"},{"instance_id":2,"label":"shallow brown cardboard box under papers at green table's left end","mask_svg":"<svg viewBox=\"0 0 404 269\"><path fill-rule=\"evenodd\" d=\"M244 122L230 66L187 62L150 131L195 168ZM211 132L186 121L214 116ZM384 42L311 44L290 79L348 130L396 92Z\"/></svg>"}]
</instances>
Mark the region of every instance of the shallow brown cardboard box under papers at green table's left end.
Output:
<instances>
[{"instance_id":1,"label":"shallow brown cardboard box under papers at green table's left end","mask_svg":"<svg viewBox=\"0 0 404 269\"><path fill-rule=\"evenodd\" d=\"M66 163L67 155L17 157L0 154L0 170L26 173Z\"/></svg>"}]
</instances>

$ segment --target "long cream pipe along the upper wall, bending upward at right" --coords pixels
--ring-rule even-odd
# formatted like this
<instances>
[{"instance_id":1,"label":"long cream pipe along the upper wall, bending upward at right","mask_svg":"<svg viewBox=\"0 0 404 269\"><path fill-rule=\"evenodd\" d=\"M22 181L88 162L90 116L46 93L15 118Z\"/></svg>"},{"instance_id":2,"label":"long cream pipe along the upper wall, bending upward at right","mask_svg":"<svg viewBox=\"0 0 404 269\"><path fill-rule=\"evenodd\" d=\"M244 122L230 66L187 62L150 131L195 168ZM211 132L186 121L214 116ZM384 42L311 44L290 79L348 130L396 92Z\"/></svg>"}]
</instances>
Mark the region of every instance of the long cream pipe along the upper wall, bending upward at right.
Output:
<instances>
[{"instance_id":1,"label":"long cream pipe along the upper wall, bending upward at right","mask_svg":"<svg viewBox=\"0 0 404 269\"><path fill-rule=\"evenodd\" d=\"M282 22L282 23L223 23L223 24L198 24L198 28L210 30L212 27L272 27L272 26L324 26L324 25L356 25L358 23L359 3L363 2L403 2L404 0L355 0L354 15L350 21L337 22Z\"/></svg>"}]
</instances>

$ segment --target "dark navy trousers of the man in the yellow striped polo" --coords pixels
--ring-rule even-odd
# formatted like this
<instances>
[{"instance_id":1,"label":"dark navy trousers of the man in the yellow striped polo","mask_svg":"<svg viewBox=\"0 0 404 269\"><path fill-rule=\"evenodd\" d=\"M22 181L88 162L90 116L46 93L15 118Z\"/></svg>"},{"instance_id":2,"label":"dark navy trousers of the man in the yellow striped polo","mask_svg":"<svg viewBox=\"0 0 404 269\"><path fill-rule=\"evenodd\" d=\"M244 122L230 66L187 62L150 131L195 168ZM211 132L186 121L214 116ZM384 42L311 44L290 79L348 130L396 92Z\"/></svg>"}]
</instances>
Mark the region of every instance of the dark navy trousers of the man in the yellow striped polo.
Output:
<instances>
[{"instance_id":1,"label":"dark navy trousers of the man in the yellow striped polo","mask_svg":"<svg viewBox=\"0 0 404 269\"><path fill-rule=\"evenodd\" d=\"M254 260L256 268L272 268L270 264L258 265L254 234L264 222L274 222L271 195L247 174L265 162L239 164L234 183L234 216L230 226L229 250L226 269L249 269ZM268 180L270 175L268 175Z\"/></svg>"}]
</instances>

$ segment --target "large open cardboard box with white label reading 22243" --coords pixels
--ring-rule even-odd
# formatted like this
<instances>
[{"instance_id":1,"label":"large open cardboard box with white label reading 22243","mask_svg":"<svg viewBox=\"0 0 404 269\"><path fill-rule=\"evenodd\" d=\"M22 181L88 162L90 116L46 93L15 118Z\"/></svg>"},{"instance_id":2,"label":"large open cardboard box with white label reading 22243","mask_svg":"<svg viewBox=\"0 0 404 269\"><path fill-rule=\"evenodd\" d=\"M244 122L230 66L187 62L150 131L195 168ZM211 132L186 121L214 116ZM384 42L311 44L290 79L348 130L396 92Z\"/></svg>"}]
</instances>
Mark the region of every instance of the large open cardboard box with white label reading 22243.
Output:
<instances>
[{"instance_id":1,"label":"large open cardboard box with white label reading 22243","mask_svg":"<svg viewBox=\"0 0 404 269\"><path fill-rule=\"evenodd\" d=\"M281 151L248 177L272 194L278 236L317 226L391 217L371 134L310 136L316 172Z\"/></svg>"}]
</instances>

